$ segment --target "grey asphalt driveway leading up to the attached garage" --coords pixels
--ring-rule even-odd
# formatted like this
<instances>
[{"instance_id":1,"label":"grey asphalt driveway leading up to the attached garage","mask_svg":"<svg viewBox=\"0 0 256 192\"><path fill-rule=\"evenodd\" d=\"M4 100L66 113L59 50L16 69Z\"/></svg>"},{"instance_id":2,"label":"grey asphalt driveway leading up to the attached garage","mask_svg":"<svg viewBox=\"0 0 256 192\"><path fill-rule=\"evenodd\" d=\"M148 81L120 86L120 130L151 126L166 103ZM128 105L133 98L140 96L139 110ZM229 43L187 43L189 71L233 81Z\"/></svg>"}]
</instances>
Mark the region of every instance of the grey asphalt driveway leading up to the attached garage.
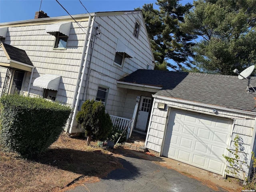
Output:
<instances>
[{"instance_id":1,"label":"grey asphalt driveway leading up to the attached garage","mask_svg":"<svg viewBox=\"0 0 256 192\"><path fill-rule=\"evenodd\" d=\"M123 168L110 172L100 182L77 186L68 192L224 192L179 172L160 166L139 152L120 150ZM218 190L216 190L216 188Z\"/></svg>"}]
</instances>

